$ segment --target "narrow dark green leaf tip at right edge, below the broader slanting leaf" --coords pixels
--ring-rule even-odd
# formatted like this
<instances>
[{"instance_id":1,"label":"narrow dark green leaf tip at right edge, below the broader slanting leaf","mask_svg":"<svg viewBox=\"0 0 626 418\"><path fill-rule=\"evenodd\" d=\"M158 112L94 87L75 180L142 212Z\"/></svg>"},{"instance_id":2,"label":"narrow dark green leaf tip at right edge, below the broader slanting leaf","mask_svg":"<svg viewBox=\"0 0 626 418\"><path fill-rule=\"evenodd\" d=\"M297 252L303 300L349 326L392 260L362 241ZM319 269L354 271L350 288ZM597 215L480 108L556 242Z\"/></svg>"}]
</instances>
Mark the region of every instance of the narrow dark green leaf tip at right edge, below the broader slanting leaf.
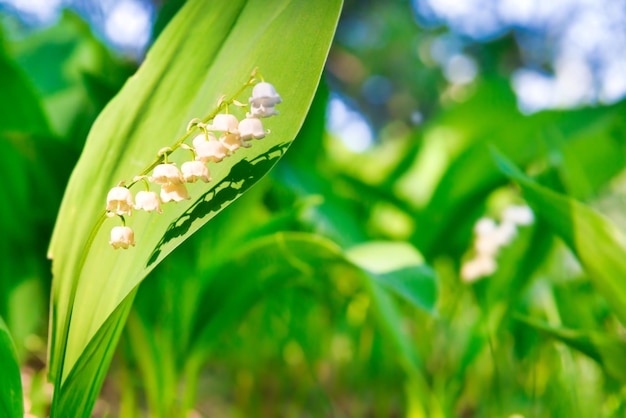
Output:
<instances>
[{"instance_id":1,"label":"narrow dark green leaf tip at right edge, below the broader slanting leaf","mask_svg":"<svg viewBox=\"0 0 626 418\"><path fill-rule=\"evenodd\" d=\"M602 365L607 374L626 382L626 341L593 331L555 328L533 318L518 319L591 357Z\"/></svg>"}]
</instances>

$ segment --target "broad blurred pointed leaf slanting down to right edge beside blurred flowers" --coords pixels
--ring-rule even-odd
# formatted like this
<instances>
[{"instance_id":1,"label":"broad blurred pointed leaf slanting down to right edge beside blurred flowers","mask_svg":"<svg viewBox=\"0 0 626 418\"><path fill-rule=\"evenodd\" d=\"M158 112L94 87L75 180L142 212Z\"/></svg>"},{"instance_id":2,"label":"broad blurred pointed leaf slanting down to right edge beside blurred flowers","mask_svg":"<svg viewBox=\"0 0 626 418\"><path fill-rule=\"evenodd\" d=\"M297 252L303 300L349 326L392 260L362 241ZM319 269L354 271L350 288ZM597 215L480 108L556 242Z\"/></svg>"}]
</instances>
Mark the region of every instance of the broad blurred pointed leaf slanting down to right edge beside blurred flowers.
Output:
<instances>
[{"instance_id":1,"label":"broad blurred pointed leaf slanting down to right edge beside blurred flowers","mask_svg":"<svg viewBox=\"0 0 626 418\"><path fill-rule=\"evenodd\" d=\"M522 188L535 213L577 255L595 288L626 324L626 237L619 228L582 203L537 185L504 157L496 155L496 160Z\"/></svg>"}]
</instances>

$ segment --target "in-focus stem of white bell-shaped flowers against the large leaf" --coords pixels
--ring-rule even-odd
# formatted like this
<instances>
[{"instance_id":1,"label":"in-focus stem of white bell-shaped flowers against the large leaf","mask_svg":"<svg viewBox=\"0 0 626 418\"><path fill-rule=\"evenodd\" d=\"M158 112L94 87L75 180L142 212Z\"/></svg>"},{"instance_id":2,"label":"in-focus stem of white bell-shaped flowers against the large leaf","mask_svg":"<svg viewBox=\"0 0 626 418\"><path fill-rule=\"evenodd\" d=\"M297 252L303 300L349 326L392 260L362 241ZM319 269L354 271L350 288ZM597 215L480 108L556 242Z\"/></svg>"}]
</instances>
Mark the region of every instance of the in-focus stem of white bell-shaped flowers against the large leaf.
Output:
<instances>
[{"instance_id":1,"label":"in-focus stem of white bell-shaped flowers against the large leaf","mask_svg":"<svg viewBox=\"0 0 626 418\"><path fill-rule=\"evenodd\" d=\"M252 85L255 73L252 73L245 86ZM146 190L137 192L134 202L130 186L124 186L124 182L109 191L106 204L107 216L117 215L122 220L121 226L115 226L111 230L109 244L113 248L127 249L129 246L135 245L135 233L126 225L124 215L130 216L133 209L162 213L161 203L180 202L189 199L187 183L195 183L198 180L208 183L212 180L208 163L219 163L239 148L251 147L250 142L253 139L262 139L269 134L269 130L266 131L263 128L261 118L278 114L274 107L281 103L282 99L276 89L264 81L257 83L254 85L252 96L248 101L250 111L241 121L228 113L229 104L247 107L235 98L230 101L220 99L218 111L224 108L226 113L215 114L212 119L209 119L211 123L204 123L199 119L192 120L188 125L188 131L193 129L201 131L193 138L192 146L186 145L182 139L177 141L173 147L161 149L157 154L160 164L154 167L152 176L136 176L133 179L130 186L138 181L143 181L146 188ZM180 170L175 163L168 162L168 155L179 147L189 150L193 154L193 159L184 162ZM159 195L149 190L150 183L161 187Z\"/></svg>"}]
</instances>

